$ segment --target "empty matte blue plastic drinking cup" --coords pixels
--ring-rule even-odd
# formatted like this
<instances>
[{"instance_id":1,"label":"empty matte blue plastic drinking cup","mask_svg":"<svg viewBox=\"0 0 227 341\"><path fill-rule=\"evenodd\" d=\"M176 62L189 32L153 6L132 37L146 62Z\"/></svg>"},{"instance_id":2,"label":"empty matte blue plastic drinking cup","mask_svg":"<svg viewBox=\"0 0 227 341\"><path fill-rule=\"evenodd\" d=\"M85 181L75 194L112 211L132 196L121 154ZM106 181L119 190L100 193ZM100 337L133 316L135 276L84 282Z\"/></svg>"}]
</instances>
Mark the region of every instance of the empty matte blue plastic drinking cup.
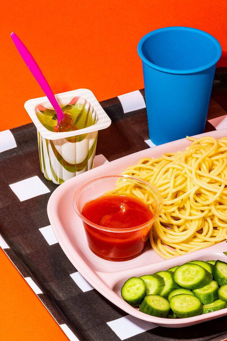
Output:
<instances>
[{"instance_id":1,"label":"empty matte blue plastic drinking cup","mask_svg":"<svg viewBox=\"0 0 227 341\"><path fill-rule=\"evenodd\" d=\"M149 137L155 145L204 132L220 43L190 27L166 27L138 44Z\"/></svg>"}]
</instances>

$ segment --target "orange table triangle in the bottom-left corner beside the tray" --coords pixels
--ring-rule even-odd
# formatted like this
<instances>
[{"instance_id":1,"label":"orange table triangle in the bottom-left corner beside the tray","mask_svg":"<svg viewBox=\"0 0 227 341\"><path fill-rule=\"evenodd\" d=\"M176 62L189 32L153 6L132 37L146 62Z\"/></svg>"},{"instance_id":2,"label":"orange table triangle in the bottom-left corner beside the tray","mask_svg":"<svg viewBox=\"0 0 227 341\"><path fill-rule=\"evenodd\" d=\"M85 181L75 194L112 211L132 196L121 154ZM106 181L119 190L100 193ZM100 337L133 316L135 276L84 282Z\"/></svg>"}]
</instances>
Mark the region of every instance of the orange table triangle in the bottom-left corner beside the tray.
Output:
<instances>
[{"instance_id":1,"label":"orange table triangle in the bottom-left corner beside the tray","mask_svg":"<svg viewBox=\"0 0 227 341\"><path fill-rule=\"evenodd\" d=\"M0 249L0 340L69 341Z\"/></svg>"}]
</instances>

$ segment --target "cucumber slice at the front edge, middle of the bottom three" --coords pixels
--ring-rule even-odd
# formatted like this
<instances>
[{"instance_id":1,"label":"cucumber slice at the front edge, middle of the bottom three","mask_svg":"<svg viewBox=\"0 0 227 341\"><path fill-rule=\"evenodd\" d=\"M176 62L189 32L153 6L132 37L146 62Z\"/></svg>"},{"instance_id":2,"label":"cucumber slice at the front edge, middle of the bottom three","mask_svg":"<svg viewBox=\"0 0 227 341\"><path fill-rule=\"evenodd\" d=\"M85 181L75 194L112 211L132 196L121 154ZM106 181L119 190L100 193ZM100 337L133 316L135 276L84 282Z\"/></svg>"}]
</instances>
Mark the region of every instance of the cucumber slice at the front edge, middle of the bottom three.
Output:
<instances>
[{"instance_id":1,"label":"cucumber slice at the front edge, middle of the bottom three","mask_svg":"<svg viewBox=\"0 0 227 341\"><path fill-rule=\"evenodd\" d=\"M170 298L169 306L177 317L192 317L202 313L202 303L193 295L174 295Z\"/></svg>"}]
</instances>

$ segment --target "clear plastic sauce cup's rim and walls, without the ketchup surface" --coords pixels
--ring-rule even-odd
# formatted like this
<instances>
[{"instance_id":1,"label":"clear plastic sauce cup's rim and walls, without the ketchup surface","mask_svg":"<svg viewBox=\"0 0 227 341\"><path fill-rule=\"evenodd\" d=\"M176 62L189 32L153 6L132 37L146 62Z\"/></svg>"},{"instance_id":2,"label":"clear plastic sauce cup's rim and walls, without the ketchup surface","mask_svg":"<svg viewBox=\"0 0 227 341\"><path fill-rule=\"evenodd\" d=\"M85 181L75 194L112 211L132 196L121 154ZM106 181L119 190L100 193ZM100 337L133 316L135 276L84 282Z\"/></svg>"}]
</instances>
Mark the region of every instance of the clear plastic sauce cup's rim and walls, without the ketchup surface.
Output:
<instances>
[{"instance_id":1,"label":"clear plastic sauce cup's rim and walls, without the ketchup surface","mask_svg":"<svg viewBox=\"0 0 227 341\"><path fill-rule=\"evenodd\" d=\"M148 192L153 213L151 220L132 228L114 229L94 224L83 216L81 211L85 203L107 192L114 193L119 181L129 185L131 190L139 188ZM145 248L152 224L161 213L163 201L158 190L145 180L127 175L108 175L82 184L74 194L73 206L83 222L91 251L109 261L126 261L138 256Z\"/></svg>"}]
</instances>

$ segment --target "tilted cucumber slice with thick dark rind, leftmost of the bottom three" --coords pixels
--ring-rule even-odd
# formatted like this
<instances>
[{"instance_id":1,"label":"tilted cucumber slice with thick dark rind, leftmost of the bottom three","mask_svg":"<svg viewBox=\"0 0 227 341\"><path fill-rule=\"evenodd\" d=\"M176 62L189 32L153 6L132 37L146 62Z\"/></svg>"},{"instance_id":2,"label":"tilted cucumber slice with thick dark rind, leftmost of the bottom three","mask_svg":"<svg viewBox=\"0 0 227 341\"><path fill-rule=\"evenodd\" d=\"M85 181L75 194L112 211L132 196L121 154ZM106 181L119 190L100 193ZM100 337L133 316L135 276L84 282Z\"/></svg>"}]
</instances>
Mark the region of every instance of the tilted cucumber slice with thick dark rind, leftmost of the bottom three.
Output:
<instances>
[{"instance_id":1,"label":"tilted cucumber slice with thick dark rind, leftmost of the bottom three","mask_svg":"<svg viewBox=\"0 0 227 341\"><path fill-rule=\"evenodd\" d=\"M158 295L147 295L141 305L139 311L157 317L166 317L170 311L169 302Z\"/></svg>"}]
</instances>

